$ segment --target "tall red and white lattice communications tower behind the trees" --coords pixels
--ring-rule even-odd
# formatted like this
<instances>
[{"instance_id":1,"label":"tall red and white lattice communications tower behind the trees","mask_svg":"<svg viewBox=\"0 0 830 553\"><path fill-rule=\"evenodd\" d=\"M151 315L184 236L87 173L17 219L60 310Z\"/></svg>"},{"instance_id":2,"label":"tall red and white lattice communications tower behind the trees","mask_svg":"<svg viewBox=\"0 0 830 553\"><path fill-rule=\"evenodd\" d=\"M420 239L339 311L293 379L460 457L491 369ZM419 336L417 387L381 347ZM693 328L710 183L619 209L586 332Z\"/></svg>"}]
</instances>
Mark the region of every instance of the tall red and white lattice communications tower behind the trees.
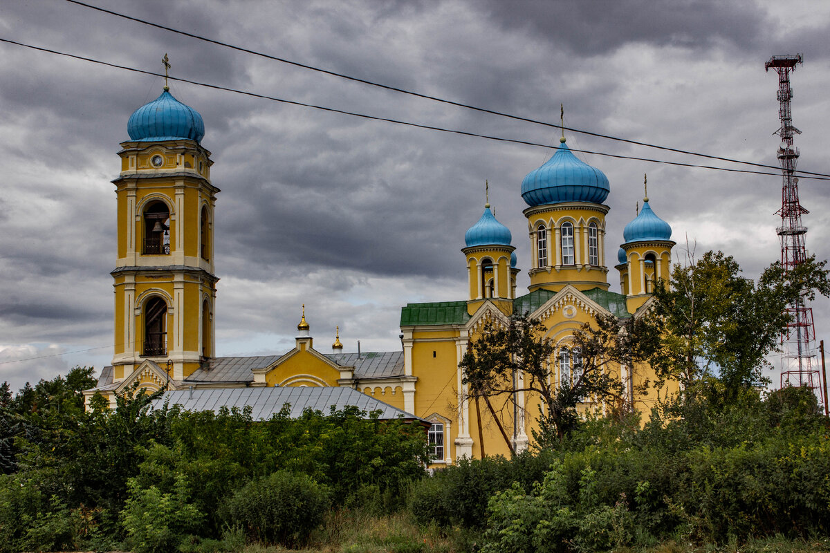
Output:
<instances>
[{"instance_id":1,"label":"tall red and white lattice communications tower behind the trees","mask_svg":"<svg viewBox=\"0 0 830 553\"><path fill-rule=\"evenodd\" d=\"M802 56L772 56L764 68L774 69L779 75L779 117L781 128L776 134L781 137L778 158L784 182L781 188L781 264L789 270L801 264L807 258L804 239L807 227L801 223L801 216L808 213L798 202L798 178L795 166L798 163L798 148L793 147L793 136L801 131L793 127L793 114L789 100L793 90L789 87L789 74L795 66L802 63ZM809 386L818 393L823 402L821 381L818 377L816 358L816 329L813 327L813 309L809 308L803 298L794 305L789 305L787 312L790 322L781 337L783 356L781 363L781 386Z\"/></svg>"}]
</instances>

